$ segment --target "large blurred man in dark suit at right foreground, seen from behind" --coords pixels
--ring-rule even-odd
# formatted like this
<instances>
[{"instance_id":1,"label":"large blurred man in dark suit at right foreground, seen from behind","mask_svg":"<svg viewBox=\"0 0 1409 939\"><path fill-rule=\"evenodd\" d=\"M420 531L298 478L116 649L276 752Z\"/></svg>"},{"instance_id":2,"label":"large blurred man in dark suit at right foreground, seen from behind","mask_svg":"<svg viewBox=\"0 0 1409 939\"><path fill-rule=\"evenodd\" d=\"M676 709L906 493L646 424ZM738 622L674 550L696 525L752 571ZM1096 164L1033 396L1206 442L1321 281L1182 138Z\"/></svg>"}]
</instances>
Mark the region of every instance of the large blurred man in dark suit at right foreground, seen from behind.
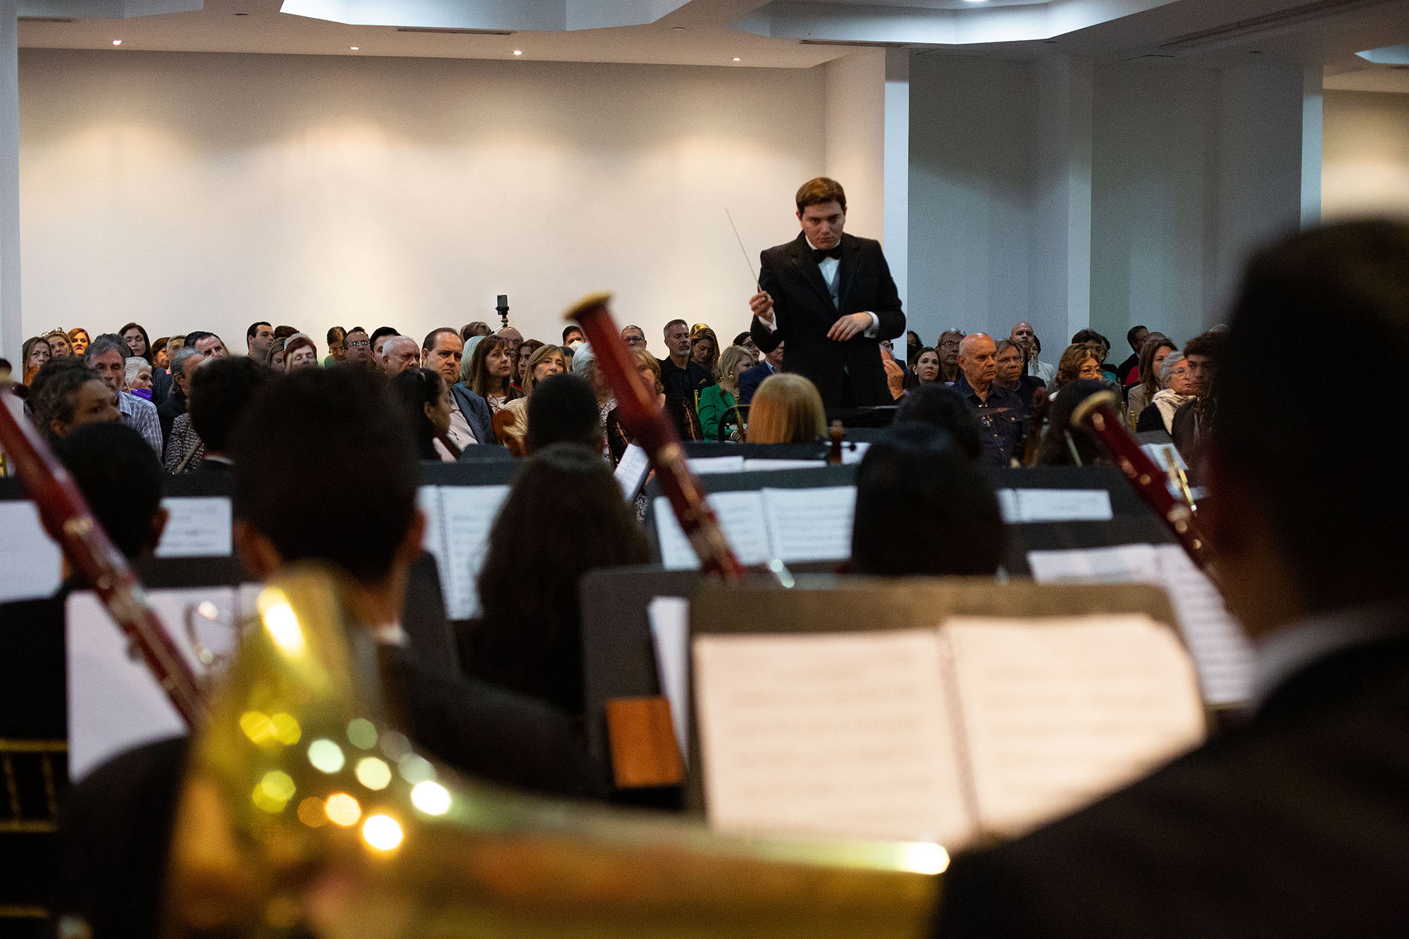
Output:
<instances>
[{"instance_id":1,"label":"large blurred man in dark suit at right foreground, seen from behind","mask_svg":"<svg viewBox=\"0 0 1409 939\"><path fill-rule=\"evenodd\" d=\"M1007 845L960 856L936 935L1409 935L1409 486L1382 412L1267 402L1265 362L1334 321L1409 354L1409 226L1251 261L1219 365L1210 541L1253 639L1247 723ZM1398 396L1367 372L1368 400Z\"/></svg>"}]
</instances>

